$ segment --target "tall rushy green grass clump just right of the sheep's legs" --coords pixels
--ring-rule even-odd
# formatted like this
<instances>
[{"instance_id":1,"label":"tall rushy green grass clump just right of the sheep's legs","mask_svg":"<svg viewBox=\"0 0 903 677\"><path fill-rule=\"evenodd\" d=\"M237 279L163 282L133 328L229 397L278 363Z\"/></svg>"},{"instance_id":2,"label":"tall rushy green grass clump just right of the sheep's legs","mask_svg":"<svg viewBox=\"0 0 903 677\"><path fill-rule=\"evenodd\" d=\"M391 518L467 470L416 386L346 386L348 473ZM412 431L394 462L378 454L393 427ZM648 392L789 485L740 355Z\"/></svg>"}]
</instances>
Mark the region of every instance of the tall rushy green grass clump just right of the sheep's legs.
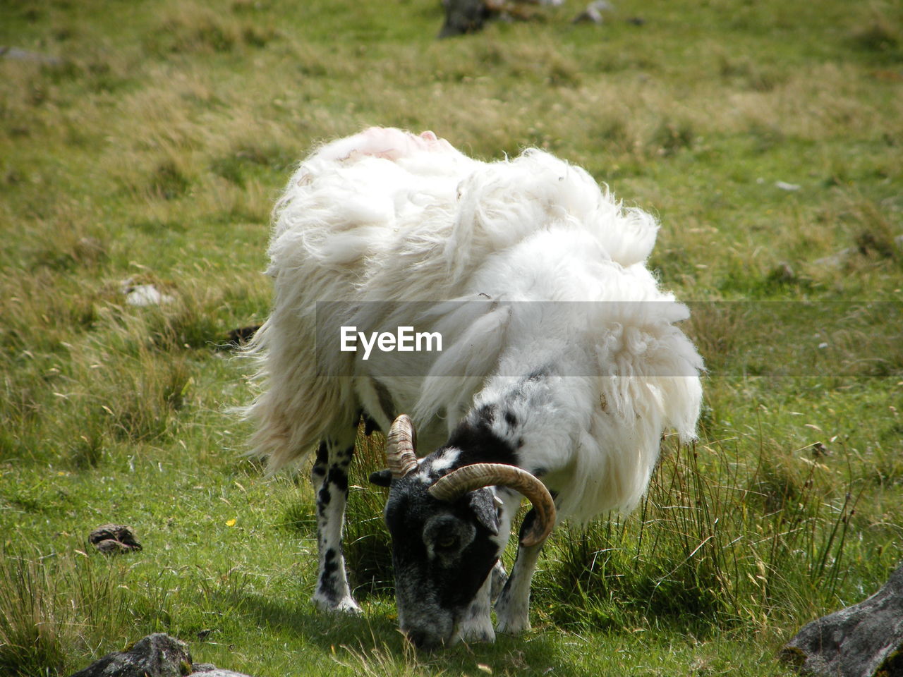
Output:
<instances>
[{"instance_id":1,"label":"tall rushy green grass clump just right of the sheep's legs","mask_svg":"<svg viewBox=\"0 0 903 677\"><path fill-rule=\"evenodd\" d=\"M666 450L634 515L554 536L537 597L570 627L793 621L845 573L856 498L826 496L820 473L764 448L756 468L726 445Z\"/></svg>"}]
</instances>

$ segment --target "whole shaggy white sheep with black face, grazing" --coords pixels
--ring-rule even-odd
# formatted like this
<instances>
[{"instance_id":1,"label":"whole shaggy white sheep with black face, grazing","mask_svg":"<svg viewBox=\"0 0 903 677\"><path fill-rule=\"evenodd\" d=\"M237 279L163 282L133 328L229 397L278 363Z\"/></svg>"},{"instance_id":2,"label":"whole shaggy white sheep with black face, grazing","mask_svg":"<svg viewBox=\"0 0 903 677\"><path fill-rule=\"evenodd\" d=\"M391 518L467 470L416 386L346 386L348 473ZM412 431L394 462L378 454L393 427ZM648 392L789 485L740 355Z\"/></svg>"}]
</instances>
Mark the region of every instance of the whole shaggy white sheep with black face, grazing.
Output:
<instances>
[{"instance_id":1,"label":"whole shaggy white sheep with black face, grazing","mask_svg":"<svg viewBox=\"0 0 903 677\"><path fill-rule=\"evenodd\" d=\"M688 311L644 265L655 219L548 153L479 162L383 128L312 153L274 218L273 311L248 348L265 387L247 415L271 468L316 449L314 602L359 610L341 531L363 415L387 431L389 468L371 480L390 487L402 630L421 647L494 639L498 557L526 496L495 607L498 631L525 631L556 520L630 510L666 427L694 438L702 359L675 327ZM425 301L418 329L441 352L386 352L377 369L325 349L337 327L396 327Z\"/></svg>"}]
</instances>

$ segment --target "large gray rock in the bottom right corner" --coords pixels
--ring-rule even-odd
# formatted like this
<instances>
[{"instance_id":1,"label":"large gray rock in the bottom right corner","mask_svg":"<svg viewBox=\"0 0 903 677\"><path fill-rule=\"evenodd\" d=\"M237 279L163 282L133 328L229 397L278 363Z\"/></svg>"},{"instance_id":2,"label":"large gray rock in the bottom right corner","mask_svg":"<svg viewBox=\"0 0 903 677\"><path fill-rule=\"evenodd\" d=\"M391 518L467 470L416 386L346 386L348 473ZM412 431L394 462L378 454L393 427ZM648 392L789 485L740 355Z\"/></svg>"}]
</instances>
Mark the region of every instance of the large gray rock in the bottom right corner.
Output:
<instances>
[{"instance_id":1,"label":"large gray rock in the bottom right corner","mask_svg":"<svg viewBox=\"0 0 903 677\"><path fill-rule=\"evenodd\" d=\"M903 675L903 564L870 598L803 627L781 657L817 677Z\"/></svg>"}]
</instances>

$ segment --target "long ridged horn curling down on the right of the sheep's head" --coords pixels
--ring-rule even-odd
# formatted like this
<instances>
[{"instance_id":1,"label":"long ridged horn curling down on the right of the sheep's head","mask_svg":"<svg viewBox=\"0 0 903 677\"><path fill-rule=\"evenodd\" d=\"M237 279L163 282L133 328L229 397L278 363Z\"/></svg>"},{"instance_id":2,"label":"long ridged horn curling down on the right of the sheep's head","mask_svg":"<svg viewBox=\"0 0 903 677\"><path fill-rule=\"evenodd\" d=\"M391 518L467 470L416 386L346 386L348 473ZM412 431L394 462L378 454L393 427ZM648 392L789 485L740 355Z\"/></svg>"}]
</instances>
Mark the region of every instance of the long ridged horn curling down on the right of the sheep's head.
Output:
<instances>
[{"instance_id":1,"label":"long ridged horn curling down on the right of the sheep's head","mask_svg":"<svg viewBox=\"0 0 903 677\"><path fill-rule=\"evenodd\" d=\"M440 501L454 501L469 491L481 487L508 487L529 499L536 511L536 520L524 534L521 545L531 547L545 542L555 525L555 503L549 490L524 468L502 463L474 463L458 468L439 478L429 488L430 495Z\"/></svg>"}]
</instances>

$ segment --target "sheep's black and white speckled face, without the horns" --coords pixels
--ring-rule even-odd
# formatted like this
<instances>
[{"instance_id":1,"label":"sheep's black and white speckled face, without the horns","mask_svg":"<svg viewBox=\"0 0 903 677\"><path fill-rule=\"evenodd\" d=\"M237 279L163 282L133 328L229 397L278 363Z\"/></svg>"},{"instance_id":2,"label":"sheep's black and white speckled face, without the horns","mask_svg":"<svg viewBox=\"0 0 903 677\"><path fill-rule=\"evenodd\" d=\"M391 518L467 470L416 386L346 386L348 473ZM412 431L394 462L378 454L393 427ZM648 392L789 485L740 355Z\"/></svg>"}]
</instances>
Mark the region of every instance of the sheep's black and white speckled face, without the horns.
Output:
<instances>
[{"instance_id":1,"label":"sheep's black and white speckled face, without the horns","mask_svg":"<svg viewBox=\"0 0 903 677\"><path fill-rule=\"evenodd\" d=\"M491 489L445 503L429 486L417 473L394 480L385 511L399 626L424 649L457 641L458 624L501 550Z\"/></svg>"}]
</instances>

